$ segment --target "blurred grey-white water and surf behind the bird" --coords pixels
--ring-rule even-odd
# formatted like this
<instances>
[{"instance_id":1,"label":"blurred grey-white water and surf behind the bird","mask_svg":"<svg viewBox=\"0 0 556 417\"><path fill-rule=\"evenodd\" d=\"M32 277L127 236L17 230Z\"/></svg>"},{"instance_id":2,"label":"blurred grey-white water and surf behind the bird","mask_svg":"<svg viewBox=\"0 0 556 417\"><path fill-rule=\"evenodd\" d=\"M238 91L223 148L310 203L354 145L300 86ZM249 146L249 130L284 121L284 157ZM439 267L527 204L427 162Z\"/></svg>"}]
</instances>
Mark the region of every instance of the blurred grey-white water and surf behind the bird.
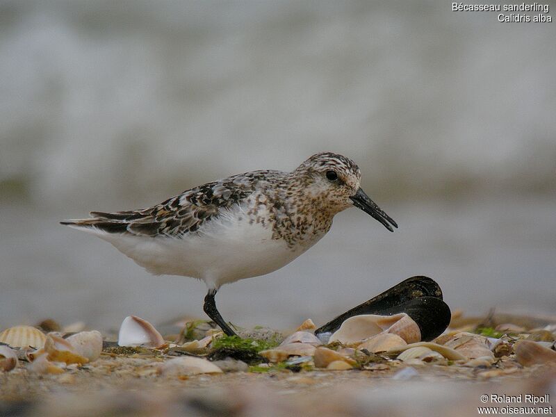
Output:
<instances>
[{"instance_id":1,"label":"blurred grey-white water and surf behind the bird","mask_svg":"<svg viewBox=\"0 0 556 417\"><path fill-rule=\"evenodd\" d=\"M554 3L550 2L550 13ZM555 313L556 26L445 1L1 1L0 325L204 318L58 224L247 170L352 157L400 224L352 209L224 286L240 325L317 324L411 275L452 309Z\"/></svg>"}]
</instances>

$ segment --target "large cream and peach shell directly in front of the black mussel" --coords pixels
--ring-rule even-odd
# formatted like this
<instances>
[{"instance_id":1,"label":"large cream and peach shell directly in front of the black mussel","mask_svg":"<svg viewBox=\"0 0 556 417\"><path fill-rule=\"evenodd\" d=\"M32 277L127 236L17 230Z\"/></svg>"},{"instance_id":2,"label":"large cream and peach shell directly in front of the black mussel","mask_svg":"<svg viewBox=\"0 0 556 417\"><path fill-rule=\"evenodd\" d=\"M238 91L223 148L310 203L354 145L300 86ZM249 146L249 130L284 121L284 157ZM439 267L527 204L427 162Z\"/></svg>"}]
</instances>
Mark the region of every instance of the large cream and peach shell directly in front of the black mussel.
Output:
<instances>
[{"instance_id":1,"label":"large cream and peach shell directly in front of the black mussel","mask_svg":"<svg viewBox=\"0 0 556 417\"><path fill-rule=\"evenodd\" d=\"M398 336L409 343L420 341L420 329L417 323L407 316L406 313L399 313L393 316L367 314L350 317L342 323L340 329L330 336L330 341L352 344L382 332L398 334Z\"/></svg>"}]
</instances>

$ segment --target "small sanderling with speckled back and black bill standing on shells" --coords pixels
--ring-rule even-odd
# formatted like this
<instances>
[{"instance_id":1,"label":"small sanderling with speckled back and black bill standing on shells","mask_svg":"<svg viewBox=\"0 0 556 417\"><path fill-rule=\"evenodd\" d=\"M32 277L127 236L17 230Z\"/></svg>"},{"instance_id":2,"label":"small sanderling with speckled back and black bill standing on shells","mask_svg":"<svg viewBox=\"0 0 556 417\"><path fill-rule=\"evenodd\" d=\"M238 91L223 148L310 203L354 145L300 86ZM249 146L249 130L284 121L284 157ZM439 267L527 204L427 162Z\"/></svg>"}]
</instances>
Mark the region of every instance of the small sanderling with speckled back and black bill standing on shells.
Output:
<instances>
[{"instance_id":1,"label":"small sanderling with speckled back and black bill standing on shells","mask_svg":"<svg viewBox=\"0 0 556 417\"><path fill-rule=\"evenodd\" d=\"M293 172L245 172L206 183L149 208L65 220L112 243L154 275L202 279L204 311L235 332L215 304L223 284L258 277L293 261L325 236L334 215L356 206L393 231L398 224L366 195L361 171L331 152Z\"/></svg>"}]
</instances>

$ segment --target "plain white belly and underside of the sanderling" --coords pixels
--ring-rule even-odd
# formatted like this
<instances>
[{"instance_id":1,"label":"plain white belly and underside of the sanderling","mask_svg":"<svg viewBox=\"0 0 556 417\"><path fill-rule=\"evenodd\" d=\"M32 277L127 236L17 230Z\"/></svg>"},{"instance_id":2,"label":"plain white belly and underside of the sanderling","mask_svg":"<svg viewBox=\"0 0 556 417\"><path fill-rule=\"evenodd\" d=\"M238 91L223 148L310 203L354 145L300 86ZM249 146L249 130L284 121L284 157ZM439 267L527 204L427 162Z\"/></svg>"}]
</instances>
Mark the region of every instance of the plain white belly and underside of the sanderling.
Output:
<instances>
[{"instance_id":1,"label":"plain white belly and underside of the sanderling","mask_svg":"<svg viewBox=\"0 0 556 417\"><path fill-rule=\"evenodd\" d=\"M264 213L259 213L264 214ZM155 275L183 275L203 279L219 288L238 279L275 271L300 256L321 237L288 247L272 238L272 226L253 222L242 208L206 222L197 233L182 238L102 234L120 252Z\"/></svg>"}]
</instances>

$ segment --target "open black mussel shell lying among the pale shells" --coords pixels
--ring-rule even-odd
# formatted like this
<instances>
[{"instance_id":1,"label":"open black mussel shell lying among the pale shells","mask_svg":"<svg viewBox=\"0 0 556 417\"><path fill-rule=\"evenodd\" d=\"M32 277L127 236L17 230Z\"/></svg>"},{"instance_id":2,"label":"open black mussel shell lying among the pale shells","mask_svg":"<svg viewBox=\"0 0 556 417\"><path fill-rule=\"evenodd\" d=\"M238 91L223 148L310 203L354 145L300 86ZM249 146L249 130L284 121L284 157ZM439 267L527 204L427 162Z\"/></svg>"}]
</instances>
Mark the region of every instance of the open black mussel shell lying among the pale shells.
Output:
<instances>
[{"instance_id":1,"label":"open black mussel shell lying among the pale shells","mask_svg":"<svg viewBox=\"0 0 556 417\"><path fill-rule=\"evenodd\" d=\"M423 341L439 336L448 327L451 318L450 307L442 300L440 286L429 277L411 277L327 322L316 329L315 334L335 332L353 316L391 316L397 313L407 313L417 322Z\"/></svg>"}]
</instances>

